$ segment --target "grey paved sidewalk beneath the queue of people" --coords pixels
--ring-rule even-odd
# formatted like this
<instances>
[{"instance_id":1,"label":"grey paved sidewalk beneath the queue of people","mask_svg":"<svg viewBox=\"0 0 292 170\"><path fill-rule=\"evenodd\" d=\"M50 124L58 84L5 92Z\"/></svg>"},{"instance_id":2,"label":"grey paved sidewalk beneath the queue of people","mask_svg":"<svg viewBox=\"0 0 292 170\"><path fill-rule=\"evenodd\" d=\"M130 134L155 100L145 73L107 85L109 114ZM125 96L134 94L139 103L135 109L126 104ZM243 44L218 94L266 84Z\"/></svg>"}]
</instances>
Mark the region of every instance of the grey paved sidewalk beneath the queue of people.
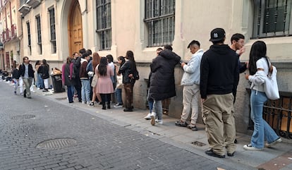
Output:
<instances>
[{"instance_id":1,"label":"grey paved sidewalk beneath the queue of people","mask_svg":"<svg viewBox=\"0 0 292 170\"><path fill-rule=\"evenodd\" d=\"M292 169L291 140L282 138L284 142L281 142L274 148L264 148L262 151L252 152L243 150L243 145L250 142L250 135L237 133L238 145L235 156L227 157L226 155L225 159L219 159L205 154L205 150L209 149L209 145L205 126L202 124L197 124L198 131L192 131L188 128L175 126L174 122L177 119L164 115L163 125L151 126L150 121L144 119L147 110L134 109L133 112L124 112L123 108L114 108L113 105L111 109L102 110L99 104L95 104L95 107L87 107L87 104L81 104L78 102L78 99L74 99L74 103L69 104L66 92L42 92L42 90L37 90L36 88L35 93L32 93L32 98L34 95L42 95L47 97L47 99L59 102L59 104L71 106L78 111L85 111L88 114L92 114L92 116L106 119L111 123L135 130L150 138L157 138L183 150L198 154L201 157L207 157L214 162L233 166L236 169Z\"/></svg>"}]
</instances>

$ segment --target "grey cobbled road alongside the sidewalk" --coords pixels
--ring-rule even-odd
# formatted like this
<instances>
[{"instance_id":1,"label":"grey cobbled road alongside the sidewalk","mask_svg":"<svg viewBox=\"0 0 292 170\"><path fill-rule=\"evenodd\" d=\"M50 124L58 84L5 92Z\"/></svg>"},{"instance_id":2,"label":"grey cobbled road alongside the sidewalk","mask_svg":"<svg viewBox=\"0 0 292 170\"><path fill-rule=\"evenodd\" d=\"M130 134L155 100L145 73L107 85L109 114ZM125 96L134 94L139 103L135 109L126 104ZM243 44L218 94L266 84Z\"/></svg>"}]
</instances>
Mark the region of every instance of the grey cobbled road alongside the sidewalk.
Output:
<instances>
[{"instance_id":1,"label":"grey cobbled road alongside the sidewalk","mask_svg":"<svg viewBox=\"0 0 292 170\"><path fill-rule=\"evenodd\" d=\"M0 82L0 169L236 169Z\"/></svg>"}]
</instances>

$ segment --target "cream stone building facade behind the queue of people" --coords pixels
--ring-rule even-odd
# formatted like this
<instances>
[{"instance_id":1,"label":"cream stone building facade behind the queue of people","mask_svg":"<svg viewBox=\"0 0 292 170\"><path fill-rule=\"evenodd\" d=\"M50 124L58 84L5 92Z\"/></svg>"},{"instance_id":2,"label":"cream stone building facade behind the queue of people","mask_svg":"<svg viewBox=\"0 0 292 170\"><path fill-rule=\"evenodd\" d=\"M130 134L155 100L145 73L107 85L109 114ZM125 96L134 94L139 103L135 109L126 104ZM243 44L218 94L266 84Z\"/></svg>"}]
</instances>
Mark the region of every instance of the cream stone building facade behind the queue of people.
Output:
<instances>
[{"instance_id":1,"label":"cream stone building facade behind the queue of people","mask_svg":"<svg viewBox=\"0 0 292 170\"><path fill-rule=\"evenodd\" d=\"M13 4L13 0L1 1L2 4L6 1L5 6ZM279 90L292 92L291 3L291 0L20 0L20 4L16 3L14 21L16 28L20 28L17 40L20 46L12 49L8 48L9 42L4 42L4 55L13 51L13 59L19 53L32 61L47 59L51 67L61 68L66 57L81 47L115 58L132 50L140 71L140 80L134 87L135 107L145 109L149 65L157 47L171 44L182 60L188 61L190 52L186 47L191 40L200 41L202 49L207 50L211 45L209 32L224 28L226 44L230 44L234 33L245 35L243 62L248 61L253 42L259 39L266 42L267 55L279 71ZM2 7L2 28L6 29L4 18ZM177 96L166 101L169 116L181 115L182 73L177 66ZM248 126L248 86L241 75L235 104L237 130L241 132Z\"/></svg>"}]
</instances>

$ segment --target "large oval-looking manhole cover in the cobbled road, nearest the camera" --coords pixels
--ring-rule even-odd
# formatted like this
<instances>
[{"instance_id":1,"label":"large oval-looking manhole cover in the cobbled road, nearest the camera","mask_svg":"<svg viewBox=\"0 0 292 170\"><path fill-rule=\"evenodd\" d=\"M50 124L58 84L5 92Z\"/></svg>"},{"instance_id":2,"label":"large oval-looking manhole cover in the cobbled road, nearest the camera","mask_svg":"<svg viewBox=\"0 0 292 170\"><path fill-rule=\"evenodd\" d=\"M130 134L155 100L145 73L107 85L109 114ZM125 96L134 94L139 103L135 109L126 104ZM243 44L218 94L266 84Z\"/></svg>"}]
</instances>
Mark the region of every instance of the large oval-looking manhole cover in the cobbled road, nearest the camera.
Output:
<instances>
[{"instance_id":1,"label":"large oval-looking manhole cover in the cobbled road, nearest the camera","mask_svg":"<svg viewBox=\"0 0 292 170\"><path fill-rule=\"evenodd\" d=\"M70 147L75 144L76 144L76 140L73 140L71 138L62 138L62 139L53 139L53 140L46 140L44 142L40 142L39 144L37 144L37 148L57 150L63 147Z\"/></svg>"}]
</instances>

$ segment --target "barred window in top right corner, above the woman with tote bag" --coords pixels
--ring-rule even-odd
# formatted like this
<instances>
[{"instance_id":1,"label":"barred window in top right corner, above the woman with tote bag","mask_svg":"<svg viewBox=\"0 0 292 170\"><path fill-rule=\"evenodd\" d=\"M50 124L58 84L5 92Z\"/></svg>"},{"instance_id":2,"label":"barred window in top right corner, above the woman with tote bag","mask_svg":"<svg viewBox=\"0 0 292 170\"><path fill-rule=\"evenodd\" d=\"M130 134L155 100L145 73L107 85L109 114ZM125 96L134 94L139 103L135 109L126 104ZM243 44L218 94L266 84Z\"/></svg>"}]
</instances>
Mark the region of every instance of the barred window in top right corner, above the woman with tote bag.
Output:
<instances>
[{"instance_id":1,"label":"barred window in top right corner, above the woman with tote bag","mask_svg":"<svg viewBox=\"0 0 292 170\"><path fill-rule=\"evenodd\" d=\"M292 0L255 0L253 37L280 37L291 35Z\"/></svg>"}]
</instances>

